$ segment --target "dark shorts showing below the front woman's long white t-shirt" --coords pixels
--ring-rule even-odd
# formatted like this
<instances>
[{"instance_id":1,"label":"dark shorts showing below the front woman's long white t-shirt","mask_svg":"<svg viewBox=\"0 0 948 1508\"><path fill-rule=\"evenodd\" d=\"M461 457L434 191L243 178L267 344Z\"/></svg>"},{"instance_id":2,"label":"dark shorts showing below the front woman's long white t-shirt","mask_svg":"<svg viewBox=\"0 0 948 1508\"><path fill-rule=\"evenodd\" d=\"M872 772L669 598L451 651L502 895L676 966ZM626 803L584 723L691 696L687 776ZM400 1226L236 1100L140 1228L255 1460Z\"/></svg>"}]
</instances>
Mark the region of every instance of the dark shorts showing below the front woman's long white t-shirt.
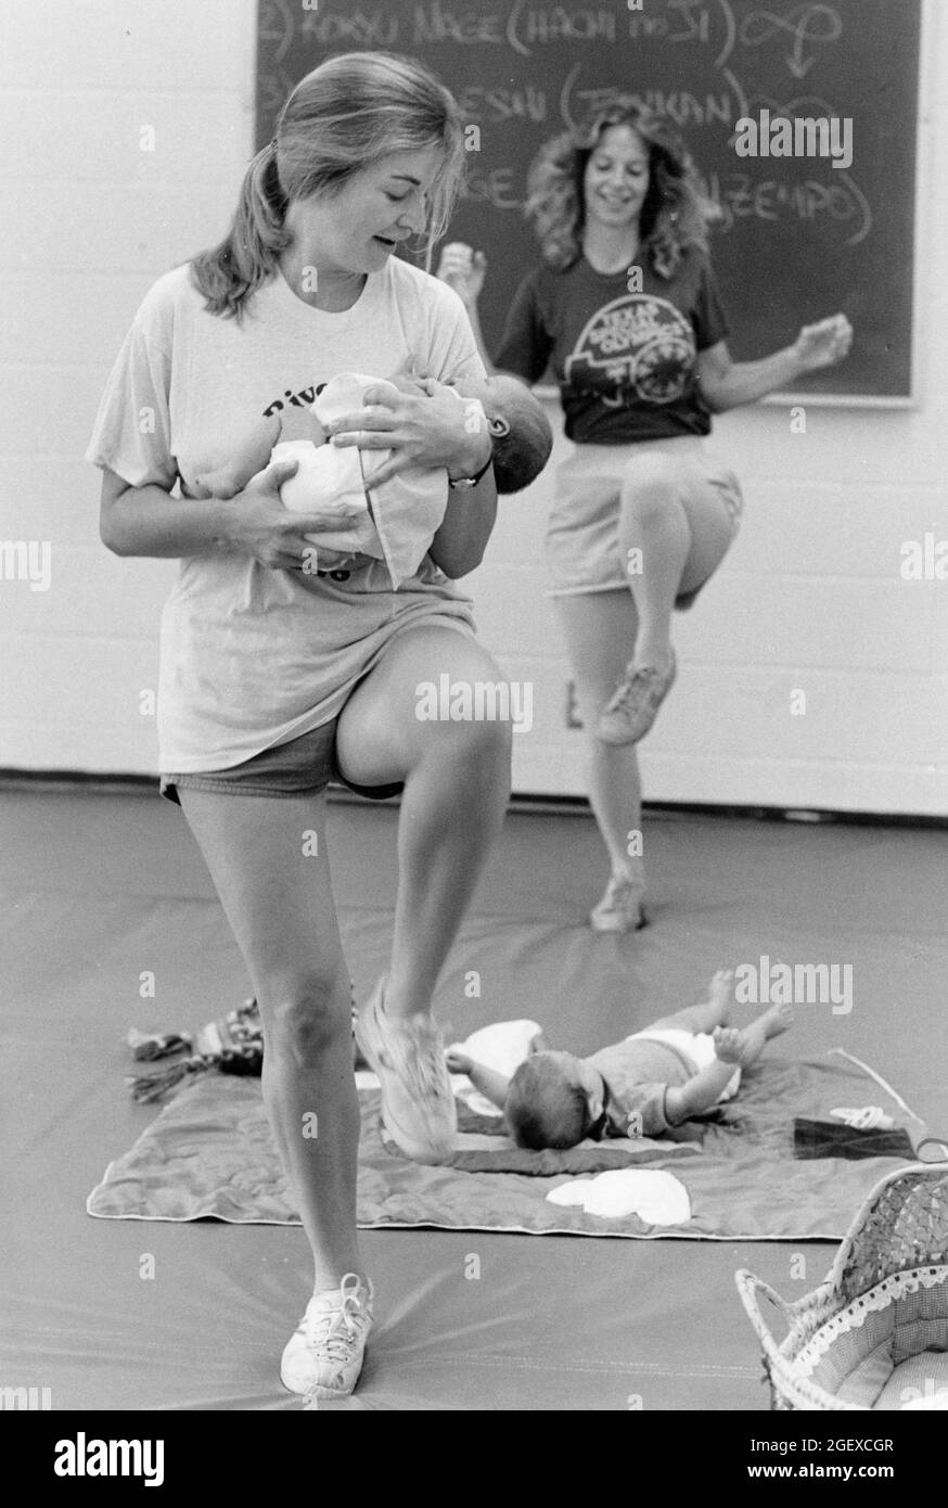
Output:
<instances>
[{"instance_id":1,"label":"dark shorts showing below the front woman's long white t-shirt","mask_svg":"<svg viewBox=\"0 0 948 1508\"><path fill-rule=\"evenodd\" d=\"M330 722L301 733L286 743L274 743L231 769L208 769L194 775L161 775L160 795L166 801L178 799L178 789L217 790L228 796L298 796L317 795L332 784L348 786L359 796L371 801L387 801L404 790L401 783L392 786L356 786L347 780L336 762L336 724Z\"/></svg>"}]
</instances>

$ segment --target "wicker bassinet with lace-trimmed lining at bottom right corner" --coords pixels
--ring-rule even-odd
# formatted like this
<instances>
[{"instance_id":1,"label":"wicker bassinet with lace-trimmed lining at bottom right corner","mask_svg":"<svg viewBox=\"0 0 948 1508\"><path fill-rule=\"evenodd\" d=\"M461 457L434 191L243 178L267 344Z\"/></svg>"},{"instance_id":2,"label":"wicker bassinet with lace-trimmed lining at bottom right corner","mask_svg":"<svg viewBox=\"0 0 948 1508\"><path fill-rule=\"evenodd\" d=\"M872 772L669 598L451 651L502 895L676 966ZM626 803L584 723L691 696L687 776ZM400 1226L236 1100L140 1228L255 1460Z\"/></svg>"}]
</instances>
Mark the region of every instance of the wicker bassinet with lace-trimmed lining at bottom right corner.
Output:
<instances>
[{"instance_id":1,"label":"wicker bassinet with lace-trimmed lining at bottom right corner","mask_svg":"<svg viewBox=\"0 0 948 1508\"><path fill-rule=\"evenodd\" d=\"M948 1161L888 1173L826 1282L796 1303L746 1270L735 1280L764 1347L772 1408L948 1407ZM790 1326L779 1345L761 1294Z\"/></svg>"}]
</instances>

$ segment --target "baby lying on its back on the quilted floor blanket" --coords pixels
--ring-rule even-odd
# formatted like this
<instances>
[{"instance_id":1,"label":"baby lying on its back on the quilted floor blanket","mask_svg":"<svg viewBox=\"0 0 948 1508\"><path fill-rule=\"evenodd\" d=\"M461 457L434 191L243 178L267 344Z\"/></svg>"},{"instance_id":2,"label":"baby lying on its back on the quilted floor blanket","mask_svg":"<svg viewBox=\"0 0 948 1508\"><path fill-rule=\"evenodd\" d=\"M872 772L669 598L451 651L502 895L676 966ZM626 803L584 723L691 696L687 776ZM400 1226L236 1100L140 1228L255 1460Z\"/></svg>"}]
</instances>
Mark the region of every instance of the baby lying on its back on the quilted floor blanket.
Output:
<instances>
[{"instance_id":1,"label":"baby lying on its back on the quilted floor blanket","mask_svg":"<svg viewBox=\"0 0 948 1508\"><path fill-rule=\"evenodd\" d=\"M740 1071L785 1031L791 1006L772 1006L751 1025L729 1025L734 974L720 971L708 998L600 1048L591 1057L555 1053L534 1038L512 1078L451 1048L448 1066L467 1074L503 1110L518 1146L577 1146L585 1137L656 1137L732 1099Z\"/></svg>"}]
</instances>

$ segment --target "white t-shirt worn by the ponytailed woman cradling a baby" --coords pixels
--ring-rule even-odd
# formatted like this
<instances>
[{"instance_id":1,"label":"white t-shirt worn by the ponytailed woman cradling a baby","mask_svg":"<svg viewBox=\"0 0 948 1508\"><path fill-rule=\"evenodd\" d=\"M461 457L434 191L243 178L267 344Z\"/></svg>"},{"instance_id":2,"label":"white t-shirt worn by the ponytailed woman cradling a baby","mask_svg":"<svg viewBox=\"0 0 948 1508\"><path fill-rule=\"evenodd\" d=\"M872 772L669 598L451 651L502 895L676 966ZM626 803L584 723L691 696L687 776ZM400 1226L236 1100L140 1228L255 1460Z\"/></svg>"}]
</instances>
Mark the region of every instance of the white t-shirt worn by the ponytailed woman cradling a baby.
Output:
<instances>
[{"instance_id":1,"label":"white t-shirt worn by the ponytailed woman cradling a baby","mask_svg":"<svg viewBox=\"0 0 948 1508\"><path fill-rule=\"evenodd\" d=\"M484 377L458 296L392 256L341 314L277 274L243 323L208 314L188 267L146 294L109 377L86 458L133 487L193 489L261 418L307 407L342 371L387 377L407 356L442 382ZM427 555L393 591L381 561L348 579L193 555L161 615L163 774L229 769L336 716L389 639L413 623L470 633L470 600Z\"/></svg>"}]
</instances>

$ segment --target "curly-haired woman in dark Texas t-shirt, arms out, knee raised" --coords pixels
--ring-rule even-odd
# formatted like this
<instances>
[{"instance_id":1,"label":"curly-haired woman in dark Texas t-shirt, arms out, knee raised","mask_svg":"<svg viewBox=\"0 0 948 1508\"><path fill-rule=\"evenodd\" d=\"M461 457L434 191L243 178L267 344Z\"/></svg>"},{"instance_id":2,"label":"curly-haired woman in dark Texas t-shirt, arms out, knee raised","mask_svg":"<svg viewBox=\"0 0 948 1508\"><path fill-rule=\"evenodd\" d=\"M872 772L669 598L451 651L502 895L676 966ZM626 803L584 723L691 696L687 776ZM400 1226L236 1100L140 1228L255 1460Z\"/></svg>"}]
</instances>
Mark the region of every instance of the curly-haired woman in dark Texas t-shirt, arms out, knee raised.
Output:
<instances>
[{"instance_id":1,"label":"curly-haired woman in dark Texas t-shirt, arms out, knee raised","mask_svg":"<svg viewBox=\"0 0 948 1508\"><path fill-rule=\"evenodd\" d=\"M540 152L528 216L543 264L521 282L497 369L552 366L571 452L547 528L553 597L588 736L589 801L610 863L600 932L644 924L638 743L675 679L675 608L690 608L731 547L740 484L707 443L711 413L841 360L844 315L793 345L732 362L707 250L710 207L665 122L616 101ZM445 247L481 353L485 258Z\"/></svg>"}]
</instances>

